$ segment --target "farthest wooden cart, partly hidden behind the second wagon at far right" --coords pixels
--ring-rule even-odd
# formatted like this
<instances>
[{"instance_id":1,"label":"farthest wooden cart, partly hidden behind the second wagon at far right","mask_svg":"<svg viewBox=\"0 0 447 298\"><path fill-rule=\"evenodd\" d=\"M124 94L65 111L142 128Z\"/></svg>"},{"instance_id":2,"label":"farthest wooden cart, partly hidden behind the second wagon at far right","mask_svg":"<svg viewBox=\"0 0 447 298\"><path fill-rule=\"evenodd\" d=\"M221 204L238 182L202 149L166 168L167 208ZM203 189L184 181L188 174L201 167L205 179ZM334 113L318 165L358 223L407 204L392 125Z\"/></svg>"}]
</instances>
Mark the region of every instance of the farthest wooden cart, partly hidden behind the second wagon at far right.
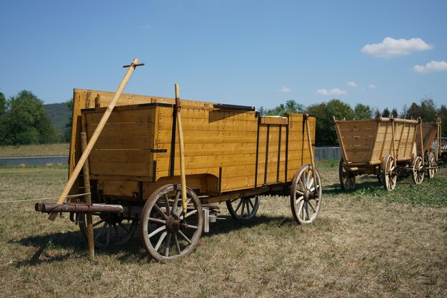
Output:
<instances>
[{"instance_id":1,"label":"farthest wooden cart, partly hidden behind the second wagon at far right","mask_svg":"<svg viewBox=\"0 0 447 298\"><path fill-rule=\"evenodd\" d=\"M434 142L435 138L436 142ZM438 170L438 162L442 158L441 118L438 118L436 123L422 123L421 129L418 129L416 134L416 148L418 155L423 156L424 169L428 178L433 178Z\"/></svg>"}]
</instances>

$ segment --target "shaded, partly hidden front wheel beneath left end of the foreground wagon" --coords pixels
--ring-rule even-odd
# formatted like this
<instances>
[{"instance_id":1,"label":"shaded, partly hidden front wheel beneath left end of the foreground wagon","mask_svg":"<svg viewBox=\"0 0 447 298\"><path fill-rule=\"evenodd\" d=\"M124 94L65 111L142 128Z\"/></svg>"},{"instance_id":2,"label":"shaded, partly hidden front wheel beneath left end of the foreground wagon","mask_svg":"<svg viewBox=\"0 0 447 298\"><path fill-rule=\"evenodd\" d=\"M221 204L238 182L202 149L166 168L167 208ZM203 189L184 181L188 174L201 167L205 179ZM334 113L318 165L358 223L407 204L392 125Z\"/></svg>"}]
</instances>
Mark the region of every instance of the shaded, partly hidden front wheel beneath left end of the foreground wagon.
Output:
<instances>
[{"instance_id":1,"label":"shaded, partly hidden front wheel beneath left end of the foreground wagon","mask_svg":"<svg viewBox=\"0 0 447 298\"><path fill-rule=\"evenodd\" d=\"M93 222L93 235L95 247L108 248L124 245L136 231L138 220L121 217L118 213L93 212L91 214ZM86 214L78 213L79 230L87 239Z\"/></svg>"}]
</instances>

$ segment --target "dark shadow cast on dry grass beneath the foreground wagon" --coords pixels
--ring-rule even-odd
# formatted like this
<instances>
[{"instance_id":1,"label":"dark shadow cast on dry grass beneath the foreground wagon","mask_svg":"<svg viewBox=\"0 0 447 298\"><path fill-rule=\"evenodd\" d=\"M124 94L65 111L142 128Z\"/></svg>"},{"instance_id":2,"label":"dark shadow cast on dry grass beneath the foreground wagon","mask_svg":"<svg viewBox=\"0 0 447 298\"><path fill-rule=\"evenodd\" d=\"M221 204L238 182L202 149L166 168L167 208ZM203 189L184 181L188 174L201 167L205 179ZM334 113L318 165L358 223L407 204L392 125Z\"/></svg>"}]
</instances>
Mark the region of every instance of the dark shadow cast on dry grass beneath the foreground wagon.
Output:
<instances>
[{"instance_id":1,"label":"dark shadow cast on dry grass beneath the foreground wagon","mask_svg":"<svg viewBox=\"0 0 447 298\"><path fill-rule=\"evenodd\" d=\"M201 237L213 237L214 235L226 234L228 232L250 229L258 225L291 226L297 225L290 217L279 216L255 216L251 220L233 220L229 215L219 217L220 220L210 223L210 232L202 233ZM70 258L84 258L88 260L89 250L87 242L81 232L54 233L49 235L35 235L25 237L21 240L10 240L10 243L23 245L24 247L35 247L36 252L26 260L15 263L16 267L36 266L42 263L61 262ZM64 253L61 252L64 251ZM66 251L69 252L66 252ZM96 256L116 257L120 262L141 262L151 260L149 253L144 250L139 240L139 228L134 237L125 245L109 247L106 249L95 248Z\"/></svg>"}]
</instances>

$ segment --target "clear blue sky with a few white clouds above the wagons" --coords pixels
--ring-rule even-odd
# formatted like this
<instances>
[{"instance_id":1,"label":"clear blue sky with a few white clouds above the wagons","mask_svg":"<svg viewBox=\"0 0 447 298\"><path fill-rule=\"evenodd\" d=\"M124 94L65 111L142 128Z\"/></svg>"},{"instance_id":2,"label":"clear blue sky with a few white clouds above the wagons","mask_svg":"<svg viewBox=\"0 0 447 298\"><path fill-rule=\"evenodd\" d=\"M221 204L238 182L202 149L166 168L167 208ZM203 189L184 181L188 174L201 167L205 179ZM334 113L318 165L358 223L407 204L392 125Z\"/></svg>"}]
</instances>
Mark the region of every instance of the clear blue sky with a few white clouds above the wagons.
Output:
<instances>
[{"instance_id":1,"label":"clear blue sky with a few white clouds above the wagons","mask_svg":"<svg viewBox=\"0 0 447 298\"><path fill-rule=\"evenodd\" d=\"M0 92L60 103L73 88L273 108L339 98L447 104L447 1L0 3ZM433 61L433 62L431 62Z\"/></svg>"}]
</instances>

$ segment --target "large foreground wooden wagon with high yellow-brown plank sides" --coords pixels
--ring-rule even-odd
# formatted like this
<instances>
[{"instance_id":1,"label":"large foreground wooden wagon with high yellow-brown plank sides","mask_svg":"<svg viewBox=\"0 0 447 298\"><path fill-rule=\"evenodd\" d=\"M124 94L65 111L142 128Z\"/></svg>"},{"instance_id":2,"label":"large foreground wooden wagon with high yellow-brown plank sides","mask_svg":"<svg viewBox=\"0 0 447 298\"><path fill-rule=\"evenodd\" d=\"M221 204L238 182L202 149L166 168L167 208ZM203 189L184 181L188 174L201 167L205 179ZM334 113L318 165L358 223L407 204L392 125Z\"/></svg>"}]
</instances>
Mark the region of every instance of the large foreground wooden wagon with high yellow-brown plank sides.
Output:
<instances>
[{"instance_id":1,"label":"large foreground wooden wagon with high yellow-brown plank sides","mask_svg":"<svg viewBox=\"0 0 447 298\"><path fill-rule=\"evenodd\" d=\"M81 135L91 141L114 93L75 89L73 98L70 175L81 159ZM316 219L321 178L313 163L314 116L261 116L249 106L182 100L184 197L176 108L174 98L122 94L84 177L71 187L71 195L91 192L92 203L77 197L38 203L36 210L70 212L83 235L93 215L96 247L124 244L139 226L143 246L161 262L194 250L219 214L216 202L226 202L234 219L248 220L259 195L291 195L296 222Z\"/></svg>"}]
</instances>

